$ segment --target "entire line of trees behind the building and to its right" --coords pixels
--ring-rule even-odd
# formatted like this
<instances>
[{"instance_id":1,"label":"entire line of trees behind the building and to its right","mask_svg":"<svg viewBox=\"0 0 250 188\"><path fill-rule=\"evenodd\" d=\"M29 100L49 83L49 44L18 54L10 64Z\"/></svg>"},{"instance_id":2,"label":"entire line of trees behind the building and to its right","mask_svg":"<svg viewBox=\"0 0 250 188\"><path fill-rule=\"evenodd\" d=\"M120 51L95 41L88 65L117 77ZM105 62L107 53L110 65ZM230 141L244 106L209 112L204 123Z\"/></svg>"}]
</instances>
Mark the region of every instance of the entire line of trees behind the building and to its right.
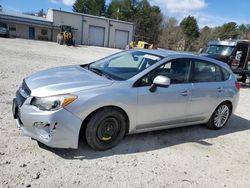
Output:
<instances>
[{"instance_id":1,"label":"entire line of trees behind the building and to its right","mask_svg":"<svg viewBox=\"0 0 250 188\"><path fill-rule=\"evenodd\" d=\"M250 39L250 24L229 22L199 29L193 16L178 23L176 18L164 16L160 7L150 5L148 0L111 0L108 5L105 0L76 0L73 11L133 22L135 41L171 50L197 51L209 40Z\"/></svg>"}]
</instances>

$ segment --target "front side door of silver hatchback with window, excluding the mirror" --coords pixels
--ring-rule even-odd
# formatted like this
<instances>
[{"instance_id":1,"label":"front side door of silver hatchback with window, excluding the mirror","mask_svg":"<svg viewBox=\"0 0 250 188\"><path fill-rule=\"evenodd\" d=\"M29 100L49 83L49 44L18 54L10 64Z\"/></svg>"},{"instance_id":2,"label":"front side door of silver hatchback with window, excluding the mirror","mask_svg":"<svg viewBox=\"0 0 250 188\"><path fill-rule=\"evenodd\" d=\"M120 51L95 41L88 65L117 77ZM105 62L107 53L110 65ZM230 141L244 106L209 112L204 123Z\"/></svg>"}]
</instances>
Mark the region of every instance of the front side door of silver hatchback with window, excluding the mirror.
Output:
<instances>
[{"instance_id":1,"label":"front side door of silver hatchback with window, excluding the mirror","mask_svg":"<svg viewBox=\"0 0 250 188\"><path fill-rule=\"evenodd\" d=\"M138 119L136 129L160 129L186 122L192 85L188 83L190 62L187 59L169 61L139 80ZM153 79L163 75L171 79L168 88L157 87L150 92Z\"/></svg>"}]
</instances>

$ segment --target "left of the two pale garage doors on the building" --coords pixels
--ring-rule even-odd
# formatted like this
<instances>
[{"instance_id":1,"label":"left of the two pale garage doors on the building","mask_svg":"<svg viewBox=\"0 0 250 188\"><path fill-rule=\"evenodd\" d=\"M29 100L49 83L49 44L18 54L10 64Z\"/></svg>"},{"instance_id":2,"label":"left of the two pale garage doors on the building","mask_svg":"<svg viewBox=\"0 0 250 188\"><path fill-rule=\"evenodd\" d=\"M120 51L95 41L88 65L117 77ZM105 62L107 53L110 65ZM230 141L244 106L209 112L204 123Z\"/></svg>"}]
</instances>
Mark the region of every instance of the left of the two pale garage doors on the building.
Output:
<instances>
[{"instance_id":1,"label":"left of the two pale garage doors on the building","mask_svg":"<svg viewBox=\"0 0 250 188\"><path fill-rule=\"evenodd\" d=\"M104 27L89 27L89 45L92 46L104 46Z\"/></svg>"}]
</instances>

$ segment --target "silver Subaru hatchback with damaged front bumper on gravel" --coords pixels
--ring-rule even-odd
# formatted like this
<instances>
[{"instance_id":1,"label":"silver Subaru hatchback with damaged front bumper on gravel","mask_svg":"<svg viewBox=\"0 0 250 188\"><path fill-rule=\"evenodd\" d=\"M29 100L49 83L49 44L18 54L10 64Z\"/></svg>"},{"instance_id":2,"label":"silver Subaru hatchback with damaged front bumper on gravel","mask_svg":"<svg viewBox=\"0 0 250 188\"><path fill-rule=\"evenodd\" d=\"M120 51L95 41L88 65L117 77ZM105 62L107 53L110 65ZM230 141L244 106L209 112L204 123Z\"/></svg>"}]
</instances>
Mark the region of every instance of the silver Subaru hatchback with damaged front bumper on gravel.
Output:
<instances>
[{"instance_id":1,"label":"silver Subaru hatchback with damaged front bumper on gravel","mask_svg":"<svg viewBox=\"0 0 250 188\"><path fill-rule=\"evenodd\" d=\"M206 124L224 127L240 84L225 63L164 50L128 50L25 78L12 111L22 133L47 146L95 150L126 134Z\"/></svg>"}]
</instances>

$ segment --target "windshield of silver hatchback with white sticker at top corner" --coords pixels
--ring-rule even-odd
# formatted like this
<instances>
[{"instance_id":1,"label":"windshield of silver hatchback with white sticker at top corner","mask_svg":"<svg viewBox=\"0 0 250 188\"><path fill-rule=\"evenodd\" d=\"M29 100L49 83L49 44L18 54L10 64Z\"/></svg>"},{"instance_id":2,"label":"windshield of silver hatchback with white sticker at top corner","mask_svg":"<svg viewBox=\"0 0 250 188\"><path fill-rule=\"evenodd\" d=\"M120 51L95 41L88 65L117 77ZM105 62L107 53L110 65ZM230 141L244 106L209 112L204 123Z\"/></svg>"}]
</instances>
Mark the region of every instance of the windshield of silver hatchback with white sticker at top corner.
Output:
<instances>
[{"instance_id":1,"label":"windshield of silver hatchback with white sticker at top corner","mask_svg":"<svg viewBox=\"0 0 250 188\"><path fill-rule=\"evenodd\" d=\"M88 69L114 80L127 80L162 58L142 51L124 51L98 60Z\"/></svg>"}]
</instances>

